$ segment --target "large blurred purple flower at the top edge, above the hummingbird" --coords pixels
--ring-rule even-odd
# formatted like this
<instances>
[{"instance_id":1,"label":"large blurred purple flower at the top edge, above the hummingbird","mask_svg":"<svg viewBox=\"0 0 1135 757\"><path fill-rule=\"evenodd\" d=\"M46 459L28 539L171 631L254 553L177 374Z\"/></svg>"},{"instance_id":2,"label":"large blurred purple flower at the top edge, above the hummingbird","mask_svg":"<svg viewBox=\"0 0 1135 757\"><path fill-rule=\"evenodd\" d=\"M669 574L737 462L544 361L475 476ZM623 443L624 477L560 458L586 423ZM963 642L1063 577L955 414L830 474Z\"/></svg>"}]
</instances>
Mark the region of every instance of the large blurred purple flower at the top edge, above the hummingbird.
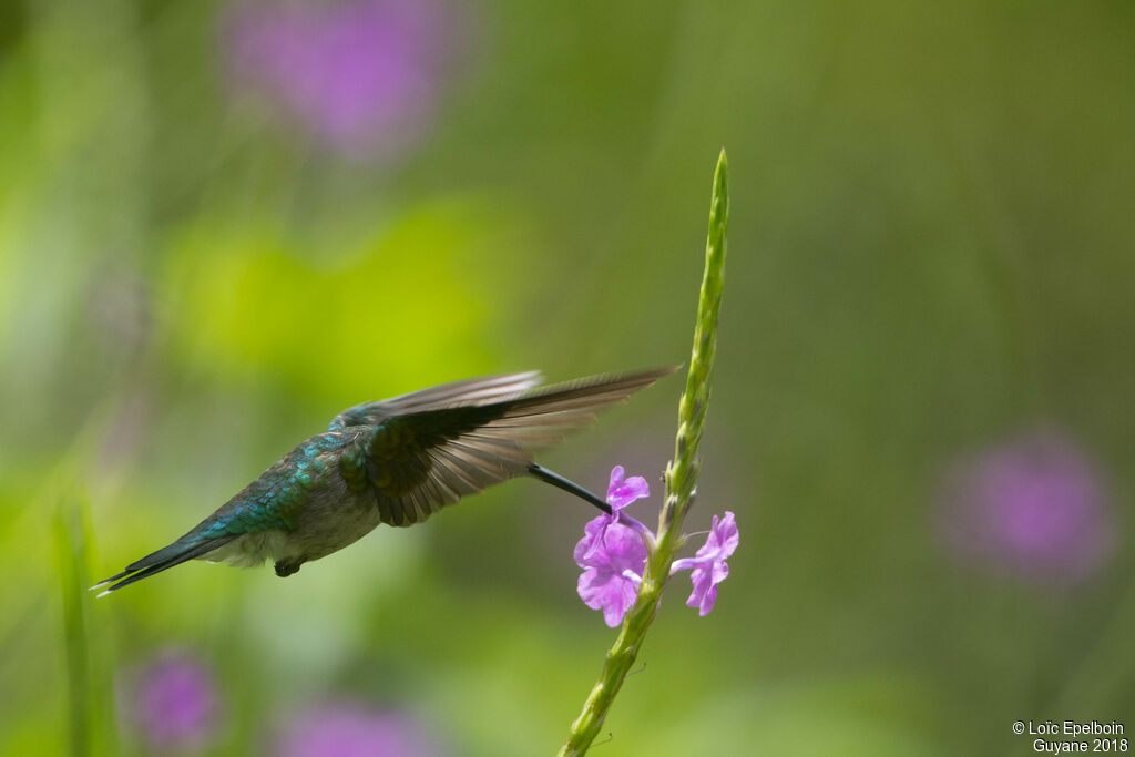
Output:
<instances>
[{"instance_id":1,"label":"large blurred purple flower at the top edge, above the hummingbird","mask_svg":"<svg viewBox=\"0 0 1135 757\"><path fill-rule=\"evenodd\" d=\"M266 1L228 20L235 83L354 154L420 135L453 48L440 0Z\"/></svg>"}]
</instances>

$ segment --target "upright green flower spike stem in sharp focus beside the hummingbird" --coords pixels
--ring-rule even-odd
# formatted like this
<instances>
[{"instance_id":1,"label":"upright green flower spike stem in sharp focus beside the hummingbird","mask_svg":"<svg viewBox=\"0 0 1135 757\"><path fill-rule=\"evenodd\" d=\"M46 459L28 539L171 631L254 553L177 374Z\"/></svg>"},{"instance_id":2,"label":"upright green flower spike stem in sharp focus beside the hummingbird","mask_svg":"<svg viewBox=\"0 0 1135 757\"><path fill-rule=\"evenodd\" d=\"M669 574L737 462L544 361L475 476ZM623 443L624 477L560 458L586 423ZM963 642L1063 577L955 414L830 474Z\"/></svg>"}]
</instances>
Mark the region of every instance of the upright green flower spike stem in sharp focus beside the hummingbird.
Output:
<instances>
[{"instance_id":1,"label":"upright green flower spike stem in sharp focus beside the hummingbird","mask_svg":"<svg viewBox=\"0 0 1135 757\"><path fill-rule=\"evenodd\" d=\"M717 347L717 312L724 284L725 232L729 226L729 186L725 151L717 158L713 194L709 202L709 235L706 241L706 266L698 296L698 317L693 328L693 350L686 392L678 404L678 438L674 460L666 465L666 494L658 519L656 547L650 552L638 599L623 619L615 644L607 651L599 680L583 703L583 709L571 725L560 757L587 754L607 717L623 680L638 657L639 647L658 612L662 591L670 580L670 566L682 546L682 522L693 501L693 487L700 464L698 446L709 405L709 380Z\"/></svg>"}]
</instances>

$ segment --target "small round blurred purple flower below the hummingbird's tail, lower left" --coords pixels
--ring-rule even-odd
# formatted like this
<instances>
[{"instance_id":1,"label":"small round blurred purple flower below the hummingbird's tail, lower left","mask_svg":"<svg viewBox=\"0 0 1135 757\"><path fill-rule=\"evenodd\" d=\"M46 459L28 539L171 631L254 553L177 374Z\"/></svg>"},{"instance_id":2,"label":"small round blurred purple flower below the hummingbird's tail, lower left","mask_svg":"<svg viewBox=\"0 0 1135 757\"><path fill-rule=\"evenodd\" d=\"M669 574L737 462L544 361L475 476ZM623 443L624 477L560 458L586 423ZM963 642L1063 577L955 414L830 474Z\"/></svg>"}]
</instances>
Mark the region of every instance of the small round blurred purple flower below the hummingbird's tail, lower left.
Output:
<instances>
[{"instance_id":1,"label":"small round blurred purple flower below the hummingbird's tail, lower left","mask_svg":"<svg viewBox=\"0 0 1135 757\"><path fill-rule=\"evenodd\" d=\"M124 713L157 750L204 746L216 727L212 673L184 651L167 651L129 676Z\"/></svg>"}]
</instances>

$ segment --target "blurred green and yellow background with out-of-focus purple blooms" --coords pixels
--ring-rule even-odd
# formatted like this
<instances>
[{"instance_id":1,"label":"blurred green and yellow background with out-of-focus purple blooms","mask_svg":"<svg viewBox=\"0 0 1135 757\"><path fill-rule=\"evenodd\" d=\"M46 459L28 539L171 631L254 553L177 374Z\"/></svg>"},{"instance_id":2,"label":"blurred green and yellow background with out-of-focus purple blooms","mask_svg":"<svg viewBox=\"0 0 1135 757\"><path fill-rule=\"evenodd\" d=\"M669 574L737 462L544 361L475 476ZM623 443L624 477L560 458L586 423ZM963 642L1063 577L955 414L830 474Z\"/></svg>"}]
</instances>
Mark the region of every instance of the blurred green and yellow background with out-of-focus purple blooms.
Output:
<instances>
[{"instance_id":1,"label":"blurred green and yellow background with out-of-focus purple blooms","mask_svg":"<svg viewBox=\"0 0 1135 757\"><path fill-rule=\"evenodd\" d=\"M683 360L722 145L741 546L595 754L1135 727L1133 94L1128 2L0 5L0 752L552 754L614 632L536 482L83 588L347 405ZM680 384L548 464L656 482Z\"/></svg>"}]
</instances>

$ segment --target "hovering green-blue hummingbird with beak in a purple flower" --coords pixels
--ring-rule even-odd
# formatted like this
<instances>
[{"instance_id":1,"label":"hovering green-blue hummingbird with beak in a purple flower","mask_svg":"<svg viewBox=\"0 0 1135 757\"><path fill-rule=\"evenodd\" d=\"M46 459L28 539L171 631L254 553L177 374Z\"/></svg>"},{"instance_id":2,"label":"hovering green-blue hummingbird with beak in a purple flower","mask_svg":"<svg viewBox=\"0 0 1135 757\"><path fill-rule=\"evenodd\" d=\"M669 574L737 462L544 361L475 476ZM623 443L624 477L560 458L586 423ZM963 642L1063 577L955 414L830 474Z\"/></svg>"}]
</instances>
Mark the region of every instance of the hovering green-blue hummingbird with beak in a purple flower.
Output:
<instances>
[{"instance_id":1,"label":"hovering green-blue hummingbird with beak in a purple flower","mask_svg":"<svg viewBox=\"0 0 1135 757\"><path fill-rule=\"evenodd\" d=\"M611 506L533 460L671 365L541 386L538 371L442 384L336 415L185 536L100 581L106 596L190 560L272 561L286 578L379 523L409 527L495 483L528 476L605 513Z\"/></svg>"}]
</instances>

